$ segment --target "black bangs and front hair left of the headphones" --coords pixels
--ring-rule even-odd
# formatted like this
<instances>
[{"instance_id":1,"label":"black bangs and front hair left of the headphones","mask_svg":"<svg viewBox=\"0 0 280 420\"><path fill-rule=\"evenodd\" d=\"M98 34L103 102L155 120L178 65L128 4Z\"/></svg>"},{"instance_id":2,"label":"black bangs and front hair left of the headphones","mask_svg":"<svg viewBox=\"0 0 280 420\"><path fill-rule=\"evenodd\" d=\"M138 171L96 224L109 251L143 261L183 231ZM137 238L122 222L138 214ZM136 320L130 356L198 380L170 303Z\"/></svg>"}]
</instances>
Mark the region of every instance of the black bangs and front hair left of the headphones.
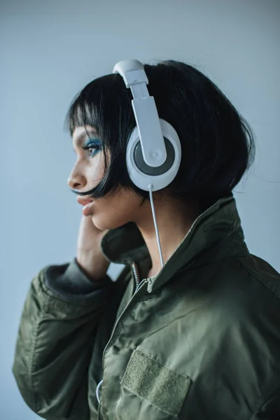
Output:
<instances>
[{"instance_id":1,"label":"black bangs and front hair left of the headphones","mask_svg":"<svg viewBox=\"0 0 280 420\"><path fill-rule=\"evenodd\" d=\"M123 78L109 74L92 80L69 107L64 125L71 137L76 127L93 127L104 155L104 179L97 187L79 195L100 198L109 193L113 195L119 185L133 186L126 169L127 141L136 126L132 99Z\"/></svg>"}]
</instances>

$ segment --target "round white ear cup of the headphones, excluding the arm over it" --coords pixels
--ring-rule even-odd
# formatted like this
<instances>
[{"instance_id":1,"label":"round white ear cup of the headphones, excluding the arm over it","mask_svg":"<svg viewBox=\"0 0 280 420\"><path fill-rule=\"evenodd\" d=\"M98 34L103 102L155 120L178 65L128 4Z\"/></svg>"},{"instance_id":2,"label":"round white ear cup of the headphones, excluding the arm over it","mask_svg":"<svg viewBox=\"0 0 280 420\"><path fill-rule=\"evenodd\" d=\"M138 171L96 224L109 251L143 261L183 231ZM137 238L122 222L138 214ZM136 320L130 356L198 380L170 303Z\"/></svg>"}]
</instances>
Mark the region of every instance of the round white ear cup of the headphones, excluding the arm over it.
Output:
<instances>
[{"instance_id":1,"label":"round white ear cup of the headphones, excluding the arm over it","mask_svg":"<svg viewBox=\"0 0 280 420\"><path fill-rule=\"evenodd\" d=\"M151 167L144 161L138 127L134 127L127 144L128 174L132 182L144 191L148 191L150 183L154 191L167 187L174 180L181 163L181 143L176 130L161 118L160 125L167 151L167 159L160 167Z\"/></svg>"}]
</instances>

